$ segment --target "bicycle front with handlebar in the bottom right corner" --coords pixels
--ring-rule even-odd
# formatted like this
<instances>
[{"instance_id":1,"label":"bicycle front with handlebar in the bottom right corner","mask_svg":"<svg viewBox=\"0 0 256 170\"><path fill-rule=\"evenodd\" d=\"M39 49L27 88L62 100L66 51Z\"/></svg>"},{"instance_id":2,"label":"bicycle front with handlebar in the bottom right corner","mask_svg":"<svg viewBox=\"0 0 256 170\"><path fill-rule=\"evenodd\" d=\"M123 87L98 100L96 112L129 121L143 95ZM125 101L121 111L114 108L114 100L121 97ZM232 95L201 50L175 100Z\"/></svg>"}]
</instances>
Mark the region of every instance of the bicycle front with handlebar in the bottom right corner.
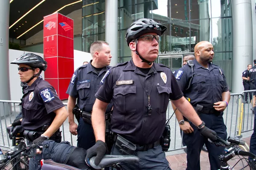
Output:
<instances>
[{"instance_id":1,"label":"bicycle front with handlebar in the bottom right corner","mask_svg":"<svg viewBox=\"0 0 256 170\"><path fill-rule=\"evenodd\" d=\"M220 170L232 170L236 166L236 164L238 164L238 162L242 161L243 159L247 161L247 165L245 167L249 166L250 170L256 170L256 155L254 155L253 153L241 150L239 148L239 145L244 145L245 141L241 140L241 139L238 139L238 138L235 138L235 137L230 137L230 136L228 137L227 141L228 142L224 141L219 136L217 136L217 140L214 141L214 142L209 140L209 142L211 142L211 143L213 143L217 146L225 147L224 150L226 151L226 153L221 154L219 156L219 161L221 163ZM237 156L242 156L243 158L239 157L240 158L239 161L237 161L237 163L231 168L230 165L227 163L227 161L229 161L230 159L232 159L236 155ZM253 161L250 161L249 159L245 158L244 156L250 156L251 158L253 158ZM243 170L245 167L244 167L244 163L243 163L243 168L241 170Z\"/></svg>"}]
</instances>

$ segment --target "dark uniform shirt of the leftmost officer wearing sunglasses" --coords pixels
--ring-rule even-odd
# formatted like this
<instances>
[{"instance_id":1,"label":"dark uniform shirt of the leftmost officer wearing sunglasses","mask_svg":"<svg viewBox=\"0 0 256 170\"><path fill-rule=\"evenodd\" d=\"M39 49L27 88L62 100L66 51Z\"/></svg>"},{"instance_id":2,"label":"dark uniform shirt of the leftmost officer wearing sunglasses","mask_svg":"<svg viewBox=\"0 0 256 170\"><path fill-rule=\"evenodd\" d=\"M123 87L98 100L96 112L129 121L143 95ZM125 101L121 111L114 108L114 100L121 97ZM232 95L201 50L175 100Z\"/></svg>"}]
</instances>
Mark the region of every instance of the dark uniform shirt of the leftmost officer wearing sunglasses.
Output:
<instances>
[{"instance_id":1,"label":"dark uniform shirt of the leftmost officer wearing sunglasses","mask_svg":"<svg viewBox=\"0 0 256 170\"><path fill-rule=\"evenodd\" d=\"M64 107L55 89L41 78L35 80L24 90L22 97L22 126L25 130L41 130L44 125L51 125L55 118L53 111Z\"/></svg>"}]
</instances>

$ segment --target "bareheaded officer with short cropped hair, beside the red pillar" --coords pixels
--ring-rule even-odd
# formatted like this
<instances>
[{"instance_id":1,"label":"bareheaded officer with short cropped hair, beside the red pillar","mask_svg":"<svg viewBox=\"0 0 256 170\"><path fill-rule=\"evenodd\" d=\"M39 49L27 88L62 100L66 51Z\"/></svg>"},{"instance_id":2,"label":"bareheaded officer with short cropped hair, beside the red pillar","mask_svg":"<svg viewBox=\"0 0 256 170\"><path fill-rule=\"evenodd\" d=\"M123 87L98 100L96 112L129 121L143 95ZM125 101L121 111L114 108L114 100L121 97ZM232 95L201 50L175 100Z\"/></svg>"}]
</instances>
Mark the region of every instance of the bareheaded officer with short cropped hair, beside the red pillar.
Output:
<instances>
[{"instance_id":1,"label":"bareheaded officer with short cropped hair, beside the red pillar","mask_svg":"<svg viewBox=\"0 0 256 170\"><path fill-rule=\"evenodd\" d=\"M77 125L74 122L72 110L78 98L78 108L90 116L96 99L94 95L99 89L102 77L110 68L108 65L112 57L108 42L105 41L93 42L90 46L90 54L93 59L74 72L67 89L67 94L69 94L67 102L69 129L73 135L78 135L77 146L86 150L95 144L90 118L84 118L83 120L81 116ZM111 105L109 108L106 113L111 111Z\"/></svg>"}]
</instances>

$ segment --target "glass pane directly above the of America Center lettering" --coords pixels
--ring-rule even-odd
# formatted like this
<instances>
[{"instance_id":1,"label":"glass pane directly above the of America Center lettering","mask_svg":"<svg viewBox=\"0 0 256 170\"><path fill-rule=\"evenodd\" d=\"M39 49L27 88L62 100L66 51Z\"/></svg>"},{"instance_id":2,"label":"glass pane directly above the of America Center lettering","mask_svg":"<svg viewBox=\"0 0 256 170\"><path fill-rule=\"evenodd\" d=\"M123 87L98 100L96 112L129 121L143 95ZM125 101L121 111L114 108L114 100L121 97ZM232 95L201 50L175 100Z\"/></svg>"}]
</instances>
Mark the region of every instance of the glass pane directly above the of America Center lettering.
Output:
<instances>
[{"instance_id":1,"label":"glass pane directly above the of America Center lettering","mask_svg":"<svg viewBox=\"0 0 256 170\"><path fill-rule=\"evenodd\" d=\"M189 33L189 22L172 23L171 30L171 51L189 51L189 34L181 34L175 28L181 28Z\"/></svg>"}]
</instances>

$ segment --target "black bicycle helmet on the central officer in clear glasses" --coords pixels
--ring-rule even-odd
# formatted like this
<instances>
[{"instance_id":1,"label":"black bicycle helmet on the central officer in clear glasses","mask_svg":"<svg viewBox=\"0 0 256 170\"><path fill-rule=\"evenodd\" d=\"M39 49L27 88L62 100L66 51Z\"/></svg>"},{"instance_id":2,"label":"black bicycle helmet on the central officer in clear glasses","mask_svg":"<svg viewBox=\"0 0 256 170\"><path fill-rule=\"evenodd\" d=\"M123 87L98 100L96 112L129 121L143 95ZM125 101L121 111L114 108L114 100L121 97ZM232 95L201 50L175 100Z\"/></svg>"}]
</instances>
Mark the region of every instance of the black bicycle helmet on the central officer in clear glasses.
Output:
<instances>
[{"instance_id":1,"label":"black bicycle helmet on the central officer in clear glasses","mask_svg":"<svg viewBox=\"0 0 256 170\"><path fill-rule=\"evenodd\" d=\"M139 38L141 35L146 33L156 33L161 36L166 31L166 26L155 22L154 20L143 18L134 21L126 31L125 39L129 46L132 40Z\"/></svg>"}]
</instances>

